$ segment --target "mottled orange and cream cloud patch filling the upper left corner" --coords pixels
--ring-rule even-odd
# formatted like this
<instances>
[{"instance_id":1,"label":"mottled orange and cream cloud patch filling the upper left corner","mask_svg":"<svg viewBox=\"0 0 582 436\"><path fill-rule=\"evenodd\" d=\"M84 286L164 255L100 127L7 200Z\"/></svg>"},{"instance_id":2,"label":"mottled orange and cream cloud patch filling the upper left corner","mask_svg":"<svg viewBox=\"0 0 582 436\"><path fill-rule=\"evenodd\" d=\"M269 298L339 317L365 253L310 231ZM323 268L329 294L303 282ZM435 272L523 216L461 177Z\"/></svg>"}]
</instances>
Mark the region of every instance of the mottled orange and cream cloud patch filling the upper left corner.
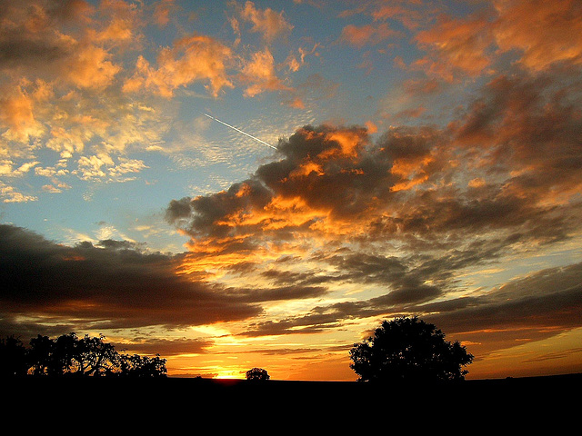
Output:
<instances>
[{"instance_id":1,"label":"mottled orange and cream cloud patch filling the upper left corner","mask_svg":"<svg viewBox=\"0 0 582 436\"><path fill-rule=\"evenodd\" d=\"M146 111L151 100L135 103L120 92L123 54L140 41L140 8L123 1L30 0L3 2L2 17L0 156L21 167L39 150L56 152L58 170L45 169L65 177L85 174L67 168L72 158L86 168L91 156L123 160L128 145L159 140L161 131L152 126L164 117L154 109L161 105ZM55 192L59 183L68 185L43 189Z\"/></svg>"}]
</instances>

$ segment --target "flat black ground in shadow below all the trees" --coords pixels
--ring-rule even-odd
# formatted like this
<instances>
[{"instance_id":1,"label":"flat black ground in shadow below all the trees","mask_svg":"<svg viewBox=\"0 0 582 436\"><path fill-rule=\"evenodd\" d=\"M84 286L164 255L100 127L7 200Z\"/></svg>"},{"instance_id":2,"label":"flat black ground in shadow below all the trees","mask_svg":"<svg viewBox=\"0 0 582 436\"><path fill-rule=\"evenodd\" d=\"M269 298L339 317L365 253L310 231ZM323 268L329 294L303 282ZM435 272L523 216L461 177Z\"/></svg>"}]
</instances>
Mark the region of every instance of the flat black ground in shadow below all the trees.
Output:
<instances>
[{"instance_id":1,"label":"flat black ground in shadow below all the trees","mask_svg":"<svg viewBox=\"0 0 582 436\"><path fill-rule=\"evenodd\" d=\"M71 418L86 418L95 426L124 422L127 430L146 422L159 426L187 421L199 430L200 422L223 428L233 422L265 426L275 420L287 430L316 423L346 434L348 428L370 420L389 424L393 431L396 424L414 431L433 423L448 428L460 422L470 423L471 431L497 425L525 431L527 426L539 430L538 424L545 422L553 432L561 432L561 426L578 420L582 374L383 386L356 381L26 378L5 381L2 388L7 400L4 421L31 417L33 425L46 416L53 423ZM174 431L164 432L168 433Z\"/></svg>"}]
</instances>

